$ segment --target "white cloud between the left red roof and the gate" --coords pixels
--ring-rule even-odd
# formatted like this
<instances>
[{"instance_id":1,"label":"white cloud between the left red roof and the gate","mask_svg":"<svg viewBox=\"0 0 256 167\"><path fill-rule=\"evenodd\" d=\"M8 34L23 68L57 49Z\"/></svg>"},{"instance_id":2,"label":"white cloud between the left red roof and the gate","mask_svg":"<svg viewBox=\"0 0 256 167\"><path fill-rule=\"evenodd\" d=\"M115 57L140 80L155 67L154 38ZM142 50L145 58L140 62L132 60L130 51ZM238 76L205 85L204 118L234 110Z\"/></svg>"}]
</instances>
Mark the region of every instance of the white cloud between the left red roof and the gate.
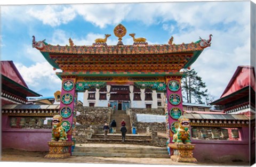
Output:
<instances>
[{"instance_id":1,"label":"white cloud between the left red roof and the gate","mask_svg":"<svg viewBox=\"0 0 256 167\"><path fill-rule=\"evenodd\" d=\"M15 63L15 66L31 90L49 89L53 93L60 90L61 80L48 62L36 63L31 66Z\"/></svg>"}]
</instances>

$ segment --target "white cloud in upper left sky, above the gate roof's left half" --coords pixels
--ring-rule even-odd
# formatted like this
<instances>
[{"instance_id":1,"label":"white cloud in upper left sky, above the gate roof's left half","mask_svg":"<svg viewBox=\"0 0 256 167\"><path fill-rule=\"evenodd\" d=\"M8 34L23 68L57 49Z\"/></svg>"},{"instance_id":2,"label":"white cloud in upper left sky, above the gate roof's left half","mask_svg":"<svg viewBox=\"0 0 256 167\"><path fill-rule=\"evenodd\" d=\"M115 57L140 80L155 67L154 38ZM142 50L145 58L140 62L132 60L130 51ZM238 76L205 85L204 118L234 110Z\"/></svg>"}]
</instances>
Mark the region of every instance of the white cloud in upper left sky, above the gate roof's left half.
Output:
<instances>
[{"instance_id":1,"label":"white cloud in upper left sky, above the gate roof's left half","mask_svg":"<svg viewBox=\"0 0 256 167\"><path fill-rule=\"evenodd\" d=\"M66 5L46 5L44 9L38 10L37 8L31 8L27 13L52 27L59 26L60 24L66 24L73 20L76 16L72 7L66 7Z\"/></svg>"}]
</instances>

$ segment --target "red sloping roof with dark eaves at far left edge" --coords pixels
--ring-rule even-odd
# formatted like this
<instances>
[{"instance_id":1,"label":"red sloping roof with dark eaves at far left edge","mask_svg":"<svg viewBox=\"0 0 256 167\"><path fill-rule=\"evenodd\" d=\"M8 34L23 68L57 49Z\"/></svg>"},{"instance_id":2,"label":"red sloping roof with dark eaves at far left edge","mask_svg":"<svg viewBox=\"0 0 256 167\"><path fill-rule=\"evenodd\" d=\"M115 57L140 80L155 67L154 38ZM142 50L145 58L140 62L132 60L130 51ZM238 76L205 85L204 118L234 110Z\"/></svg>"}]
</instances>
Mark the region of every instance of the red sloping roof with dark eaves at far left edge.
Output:
<instances>
[{"instance_id":1,"label":"red sloping roof with dark eaves at far left edge","mask_svg":"<svg viewBox=\"0 0 256 167\"><path fill-rule=\"evenodd\" d=\"M19 91L26 96L42 96L28 88L13 61L1 61L1 76L2 85L8 86L15 91Z\"/></svg>"}]
</instances>

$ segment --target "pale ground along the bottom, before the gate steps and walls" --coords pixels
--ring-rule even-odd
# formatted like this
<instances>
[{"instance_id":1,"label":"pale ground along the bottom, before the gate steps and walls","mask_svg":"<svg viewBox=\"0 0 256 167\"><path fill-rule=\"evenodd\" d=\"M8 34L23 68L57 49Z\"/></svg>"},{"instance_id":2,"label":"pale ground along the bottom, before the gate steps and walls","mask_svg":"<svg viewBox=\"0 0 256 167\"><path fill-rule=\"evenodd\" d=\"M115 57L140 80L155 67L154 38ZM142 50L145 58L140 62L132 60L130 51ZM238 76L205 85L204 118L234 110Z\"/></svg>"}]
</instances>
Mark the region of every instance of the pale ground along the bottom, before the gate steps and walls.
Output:
<instances>
[{"instance_id":1,"label":"pale ground along the bottom, before the gate steps and walls","mask_svg":"<svg viewBox=\"0 0 256 167\"><path fill-rule=\"evenodd\" d=\"M90 147L95 146L109 146L109 147L134 147L134 145L124 144L82 144ZM79 144L78 144L79 146ZM154 147L154 146L140 146L137 147ZM214 162L198 162L198 163L179 163L173 162L169 158L121 158L121 157L84 157L84 156L71 156L64 160L49 160L44 158L47 152L28 152L17 149L3 149L1 155L1 161L4 162L58 162L58 163L93 163L93 164L154 164L154 165L210 165L210 166L247 166L247 164L236 162L236 163L214 163ZM28 163L29 164L29 163ZM38 163L37 163L38 164ZM45 164L45 163L43 163ZM0 166L1 165L0 163ZM26 165L27 166L27 165ZM34 166L34 165L33 165ZM48 166L48 165L43 165ZM53 165L59 166L59 165ZM98 165L99 166L99 165ZM100 165L101 166L101 165Z\"/></svg>"}]
</instances>

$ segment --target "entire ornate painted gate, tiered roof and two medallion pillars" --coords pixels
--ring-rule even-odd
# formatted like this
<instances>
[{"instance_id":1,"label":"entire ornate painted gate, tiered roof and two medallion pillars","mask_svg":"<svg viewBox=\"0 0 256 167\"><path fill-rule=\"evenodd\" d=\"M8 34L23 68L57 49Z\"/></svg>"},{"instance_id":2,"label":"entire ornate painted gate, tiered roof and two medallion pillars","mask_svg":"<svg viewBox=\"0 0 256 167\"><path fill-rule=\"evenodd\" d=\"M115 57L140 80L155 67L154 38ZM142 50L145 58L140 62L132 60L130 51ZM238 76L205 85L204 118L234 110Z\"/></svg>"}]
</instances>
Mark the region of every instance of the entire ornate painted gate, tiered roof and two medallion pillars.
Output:
<instances>
[{"instance_id":1,"label":"entire ornate painted gate, tiered roof and two medallion pillars","mask_svg":"<svg viewBox=\"0 0 256 167\"><path fill-rule=\"evenodd\" d=\"M107 84L135 85L165 93L166 133L170 143L182 115L181 69L193 64L203 49L211 45L209 40L175 45L173 37L168 44L148 45L145 38L134 38L132 45L123 45L126 29L119 24L114 29L117 45L108 46L105 39L96 39L92 46L76 46L69 39L69 46L53 46L45 41L33 40L37 48L54 69L61 69L57 76L62 80L60 115L68 140L76 124L75 102L77 93ZM211 36L210 36L211 37ZM132 95L131 95L132 96ZM132 98L132 97L131 97Z\"/></svg>"}]
</instances>

